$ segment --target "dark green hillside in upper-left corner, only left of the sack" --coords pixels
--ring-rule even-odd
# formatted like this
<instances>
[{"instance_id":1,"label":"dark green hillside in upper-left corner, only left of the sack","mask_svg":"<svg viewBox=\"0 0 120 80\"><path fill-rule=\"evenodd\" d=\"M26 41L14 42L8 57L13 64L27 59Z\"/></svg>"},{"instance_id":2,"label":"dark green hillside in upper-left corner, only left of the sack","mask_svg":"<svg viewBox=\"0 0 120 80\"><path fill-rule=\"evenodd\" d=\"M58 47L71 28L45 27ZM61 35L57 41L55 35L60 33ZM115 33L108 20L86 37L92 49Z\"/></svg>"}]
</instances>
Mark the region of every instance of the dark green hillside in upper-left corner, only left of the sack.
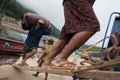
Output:
<instances>
[{"instance_id":1,"label":"dark green hillside in upper-left corner, only left of the sack","mask_svg":"<svg viewBox=\"0 0 120 80\"><path fill-rule=\"evenodd\" d=\"M15 0L0 0L0 12L4 15L10 16L20 20L22 15L30 10L24 9Z\"/></svg>"}]
</instances>

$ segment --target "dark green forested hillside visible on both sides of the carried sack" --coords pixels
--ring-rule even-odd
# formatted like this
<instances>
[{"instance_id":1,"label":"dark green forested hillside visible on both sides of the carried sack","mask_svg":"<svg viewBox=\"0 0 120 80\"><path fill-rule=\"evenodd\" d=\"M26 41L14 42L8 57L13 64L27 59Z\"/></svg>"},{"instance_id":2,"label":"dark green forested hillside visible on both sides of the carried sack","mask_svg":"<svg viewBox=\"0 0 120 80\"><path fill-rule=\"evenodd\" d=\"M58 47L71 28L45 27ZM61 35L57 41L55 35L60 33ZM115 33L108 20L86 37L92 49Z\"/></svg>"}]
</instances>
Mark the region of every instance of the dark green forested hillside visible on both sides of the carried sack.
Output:
<instances>
[{"instance_id":1,"label":"dark green forested hillside visible on both sides of the carried sack","mask_svg":"<svg viewBox=\"0 0 120 80\"><path fill-rule=\"evenodd\" d=\"M0 13L3 15L7 15L17 20L21 20L22 15L26 12L35 13L30 9L24 8L15 0L0 0ZM54 25L52 25L51 35L58 38L59 34L60 34L60 31Z\"/></svg>"}]
</instances>

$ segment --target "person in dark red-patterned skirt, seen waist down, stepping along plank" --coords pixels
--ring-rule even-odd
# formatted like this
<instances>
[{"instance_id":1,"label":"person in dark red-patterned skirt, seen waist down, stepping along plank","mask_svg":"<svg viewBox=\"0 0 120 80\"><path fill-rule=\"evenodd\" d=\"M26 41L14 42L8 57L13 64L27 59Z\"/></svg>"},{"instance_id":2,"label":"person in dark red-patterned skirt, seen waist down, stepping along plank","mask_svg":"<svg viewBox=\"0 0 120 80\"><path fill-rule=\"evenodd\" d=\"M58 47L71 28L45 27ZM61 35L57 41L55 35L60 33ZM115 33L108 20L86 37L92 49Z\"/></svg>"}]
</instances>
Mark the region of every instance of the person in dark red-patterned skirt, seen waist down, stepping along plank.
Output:
<instances>
[{"instance_id":1,"label":"person in dark red-patterned skirt, seen waist down, stepping along plank","mask_svg":"<svg viewBox=\"0 0 120 80\"><path fill-rule=\"evenodd\" d=\"M59 40L42 67L71 68L76 64L67 58L81 47L91 36L100 31L99 21L94 13L95 0L63 0L65 23Z\"/></svg>"}]
</instances>

